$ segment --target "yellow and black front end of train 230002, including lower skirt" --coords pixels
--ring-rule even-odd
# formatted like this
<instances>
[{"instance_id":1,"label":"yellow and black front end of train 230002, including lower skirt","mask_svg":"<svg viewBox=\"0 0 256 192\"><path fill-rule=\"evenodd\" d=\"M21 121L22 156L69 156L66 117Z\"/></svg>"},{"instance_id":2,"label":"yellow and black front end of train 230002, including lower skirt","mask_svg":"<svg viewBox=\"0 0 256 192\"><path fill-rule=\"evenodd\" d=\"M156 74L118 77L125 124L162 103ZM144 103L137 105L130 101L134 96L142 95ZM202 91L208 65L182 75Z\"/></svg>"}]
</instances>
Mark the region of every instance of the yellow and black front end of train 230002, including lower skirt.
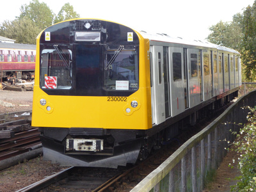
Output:
<instances>
[{"instance_id":1,"label":"yellow and black front end of train 230002, including lower skirt","mask_svg":"<svg viewBox=\"0 0 256 192\"><path fill-rule=\"evenodd\" d=\"M32 125L45 159L116 167L147 154L148 50L139 33L107 20L68 20L38 35Z\"/></svg>"}]
</instances>

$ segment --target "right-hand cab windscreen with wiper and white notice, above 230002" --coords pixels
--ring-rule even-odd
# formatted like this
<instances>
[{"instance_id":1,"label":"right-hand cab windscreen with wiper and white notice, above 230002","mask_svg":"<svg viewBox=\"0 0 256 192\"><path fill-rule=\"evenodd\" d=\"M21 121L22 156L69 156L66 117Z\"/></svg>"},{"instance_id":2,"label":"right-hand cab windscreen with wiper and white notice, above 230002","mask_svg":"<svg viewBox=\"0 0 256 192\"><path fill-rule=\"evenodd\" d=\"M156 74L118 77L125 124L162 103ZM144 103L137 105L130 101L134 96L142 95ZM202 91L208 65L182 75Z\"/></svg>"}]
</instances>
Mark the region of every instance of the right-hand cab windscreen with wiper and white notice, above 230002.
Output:
<instances>
[{"instance_id":1,"label":"right-hand cab windscreen with wiper and white notice, above 230002","mask_svg":"<svg viewBox=\"0 0 256 192\"><path fill-rule=\"evenodd\" d=\"M138 90L138 51L124 49L121 46L118 50L105 51L104 90Z\"/></svg>"}]
</instances>

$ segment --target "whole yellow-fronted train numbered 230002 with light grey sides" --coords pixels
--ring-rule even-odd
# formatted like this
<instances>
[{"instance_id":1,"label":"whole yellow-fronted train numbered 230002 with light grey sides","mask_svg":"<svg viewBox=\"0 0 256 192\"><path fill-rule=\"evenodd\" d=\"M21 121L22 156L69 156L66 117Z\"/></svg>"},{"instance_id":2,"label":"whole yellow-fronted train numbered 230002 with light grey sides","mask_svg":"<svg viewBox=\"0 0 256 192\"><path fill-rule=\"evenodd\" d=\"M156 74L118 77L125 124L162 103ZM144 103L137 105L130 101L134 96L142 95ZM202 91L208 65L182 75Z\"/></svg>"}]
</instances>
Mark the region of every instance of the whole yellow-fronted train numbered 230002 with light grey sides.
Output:
<instances>
[{"instance_id":1,"label":"whole yellow-fronted train numbered 230002 with light grey sides","mask_svg":"<svg viewBox=\"0 0 256 192\"><path fill-rule=\"evenodd\" d=\"M54 24L36 52L32 126L61 166L134 164L241 86L233 49L104 19Z\"/></svg>"}]
</instances>

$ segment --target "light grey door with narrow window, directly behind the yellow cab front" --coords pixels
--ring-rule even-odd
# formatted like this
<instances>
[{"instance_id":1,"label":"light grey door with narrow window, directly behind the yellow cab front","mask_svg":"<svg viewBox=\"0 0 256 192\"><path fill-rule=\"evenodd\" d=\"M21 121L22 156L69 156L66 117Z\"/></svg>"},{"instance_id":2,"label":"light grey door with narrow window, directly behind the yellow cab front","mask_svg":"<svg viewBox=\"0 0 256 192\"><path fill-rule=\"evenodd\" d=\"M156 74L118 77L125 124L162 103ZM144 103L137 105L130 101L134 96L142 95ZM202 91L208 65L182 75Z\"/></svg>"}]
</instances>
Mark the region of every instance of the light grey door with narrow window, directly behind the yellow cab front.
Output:
<instances>
[{"instance_id":1,"label":"light grey door with narrow window, directly behind the yellow cab front","mask_svg":"<svg viewBox=\"0 0 256 192\"><path fill-rule=\"evenodd\" d=\"M163 47L152 46L151 74L152 74L152 124L161 124L165 120L164 108L164 74Z\"/></svg>"}]
</instances>

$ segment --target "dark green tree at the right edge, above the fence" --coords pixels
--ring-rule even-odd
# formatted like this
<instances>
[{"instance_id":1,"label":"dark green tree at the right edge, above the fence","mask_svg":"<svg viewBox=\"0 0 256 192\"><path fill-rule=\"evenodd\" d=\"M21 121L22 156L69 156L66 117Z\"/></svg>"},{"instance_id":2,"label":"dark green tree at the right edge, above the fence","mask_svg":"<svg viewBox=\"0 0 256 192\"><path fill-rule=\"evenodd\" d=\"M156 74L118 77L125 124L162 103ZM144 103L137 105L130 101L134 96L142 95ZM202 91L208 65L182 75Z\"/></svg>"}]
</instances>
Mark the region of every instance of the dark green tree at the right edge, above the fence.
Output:
<instances>
[{"instance_id":1,"label":"dark green tree at the right edge, above the fence","mask_svg":"<svg viewBox=\"0 0 256 192\"><path fill-rule=\"evenodd\" d=\"M256 2L248 6L243 13L243 41L241 58L244 63L244 75L248 81L256 78Z\"/></svg>"}]
</instances>

